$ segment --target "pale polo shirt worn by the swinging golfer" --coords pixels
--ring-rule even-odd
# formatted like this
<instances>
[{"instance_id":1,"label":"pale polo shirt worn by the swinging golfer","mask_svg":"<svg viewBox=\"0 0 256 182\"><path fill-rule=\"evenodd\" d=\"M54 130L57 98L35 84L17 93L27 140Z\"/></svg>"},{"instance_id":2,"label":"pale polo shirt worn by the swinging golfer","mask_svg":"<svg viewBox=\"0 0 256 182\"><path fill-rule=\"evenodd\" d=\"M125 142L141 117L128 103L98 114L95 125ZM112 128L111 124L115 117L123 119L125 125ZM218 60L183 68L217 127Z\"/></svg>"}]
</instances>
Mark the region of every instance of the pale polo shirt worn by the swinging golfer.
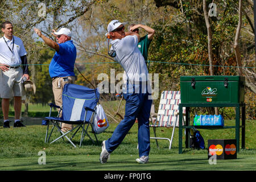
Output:
<instances>
[{"instance_id":1,"label":"pale polo shirt worn by the swinging golfer","mask_svg":"<svg viewBox=\"0 0 256 182\"><path fill-rule=\"evenodd\" d=\"M123 69L125 69L126 76L129 80L147 81L147 66L141 51L139 51L139 48L137 47L137 36L128 35L123 39L112 40L110 43L117 54L115 60L122 65ZM123 80L125 81L126 78L123 78Z\"/></svg>"}]
</instances>

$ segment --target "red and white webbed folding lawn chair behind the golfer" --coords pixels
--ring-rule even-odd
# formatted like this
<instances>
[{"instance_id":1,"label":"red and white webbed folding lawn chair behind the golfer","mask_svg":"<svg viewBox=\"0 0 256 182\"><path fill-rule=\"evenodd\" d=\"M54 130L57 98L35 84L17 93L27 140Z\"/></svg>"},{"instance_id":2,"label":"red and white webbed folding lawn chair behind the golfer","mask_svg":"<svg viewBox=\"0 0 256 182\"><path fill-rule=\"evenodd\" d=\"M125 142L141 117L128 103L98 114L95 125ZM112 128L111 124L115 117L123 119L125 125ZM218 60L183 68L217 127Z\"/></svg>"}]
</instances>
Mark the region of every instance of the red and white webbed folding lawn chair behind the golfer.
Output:
<instances>
[{"instance_id":1,"label":"red and white webbed folding lawn chair behind the golfer","mask_svg":"<svg viewBox=\"0 0 256 182\"><path fill-rule=\"evenodd\" d=\"M179 104L180 104L180 91L163 91L160 98L158 114L156 119L152 119L154 135L150 139L155 139L158 145L158 139L168 140L170 142L169 149L171 149L172 139L174 138L175 127L179 127ZM184 107L183 107L184 108ZM183 109L183 125L185 121L185 108ZM174 127L170 138L156 137L156 127Z\"/></svg>"}]
</instances>

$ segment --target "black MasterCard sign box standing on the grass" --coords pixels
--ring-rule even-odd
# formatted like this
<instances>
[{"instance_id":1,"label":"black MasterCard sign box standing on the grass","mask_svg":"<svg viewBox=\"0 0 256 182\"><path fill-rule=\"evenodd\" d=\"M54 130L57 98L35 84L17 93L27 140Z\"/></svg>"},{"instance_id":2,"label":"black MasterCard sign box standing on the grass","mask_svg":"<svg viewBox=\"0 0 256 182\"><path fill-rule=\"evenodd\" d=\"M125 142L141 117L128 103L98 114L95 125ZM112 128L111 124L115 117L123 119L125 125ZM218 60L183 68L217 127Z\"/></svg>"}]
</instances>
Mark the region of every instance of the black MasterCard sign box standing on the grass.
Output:
<instances>
[{"instance_id":1,"label":"black MasterCard sign box standing on the grass","mask_svg":"<svg viewBox=\"0 0 256 182\"><path fill-rule=\"evenodd\" d=\"M217 159L236 159L236 139L210 139L208 140L208 159L216 155Z\"/></svg>"}]
</instances>

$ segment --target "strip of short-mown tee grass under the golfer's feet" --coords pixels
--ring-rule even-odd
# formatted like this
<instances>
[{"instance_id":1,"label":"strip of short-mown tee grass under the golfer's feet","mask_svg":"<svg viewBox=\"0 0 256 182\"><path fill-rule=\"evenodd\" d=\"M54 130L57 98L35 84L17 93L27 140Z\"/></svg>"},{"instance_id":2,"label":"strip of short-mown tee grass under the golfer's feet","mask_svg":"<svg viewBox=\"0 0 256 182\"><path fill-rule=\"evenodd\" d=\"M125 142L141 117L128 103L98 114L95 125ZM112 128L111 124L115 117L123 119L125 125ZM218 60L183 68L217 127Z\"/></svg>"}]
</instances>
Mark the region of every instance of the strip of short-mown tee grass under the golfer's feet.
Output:
<instances>
[{"instance_id":1,"label":"strip of short-mown tee grass under the golfer's feet","mask_svg":"<svg viewBox=\"0 0 256 182\"><path fill-rule=\"evenodd\" d=\"M255 170L256 157L238 155L238 159L217 160L210 165L206 155L150 155L150 163L140 165L136 155L110 155L106 164L99 162L99 155L46 156L46 164L38 164L39 156L30 158L0 159L1 170L86 170L86 171L211 171Z\"/></svg>"}]
</instances>

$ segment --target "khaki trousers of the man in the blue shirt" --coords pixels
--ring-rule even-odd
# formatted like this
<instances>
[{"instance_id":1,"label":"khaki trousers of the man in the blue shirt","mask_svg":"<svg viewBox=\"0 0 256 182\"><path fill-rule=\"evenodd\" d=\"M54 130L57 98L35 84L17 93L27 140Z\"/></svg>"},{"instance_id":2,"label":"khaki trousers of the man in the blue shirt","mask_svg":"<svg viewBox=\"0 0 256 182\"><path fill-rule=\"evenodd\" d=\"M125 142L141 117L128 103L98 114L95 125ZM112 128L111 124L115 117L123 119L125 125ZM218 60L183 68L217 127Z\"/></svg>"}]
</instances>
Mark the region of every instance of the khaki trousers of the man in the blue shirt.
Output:
<instances>
[{"instance_id":1,"label":"khaki trousers of the man in the blue shirt","mask_svg":"<svg viewBox=\"0 0 256 182\"><path fill-rule=\"evenodd\" d=\"M66 76L66 77L56 77L52 81L52 91L54 95L55 104L57 106L62 106L62 91L65 84L73 84L75 82L75 76ZM60 113L60 116L61 117ZM73 129L73 125L66 123L61 124L61 129Z\"/></svg>"}]
</instances>

